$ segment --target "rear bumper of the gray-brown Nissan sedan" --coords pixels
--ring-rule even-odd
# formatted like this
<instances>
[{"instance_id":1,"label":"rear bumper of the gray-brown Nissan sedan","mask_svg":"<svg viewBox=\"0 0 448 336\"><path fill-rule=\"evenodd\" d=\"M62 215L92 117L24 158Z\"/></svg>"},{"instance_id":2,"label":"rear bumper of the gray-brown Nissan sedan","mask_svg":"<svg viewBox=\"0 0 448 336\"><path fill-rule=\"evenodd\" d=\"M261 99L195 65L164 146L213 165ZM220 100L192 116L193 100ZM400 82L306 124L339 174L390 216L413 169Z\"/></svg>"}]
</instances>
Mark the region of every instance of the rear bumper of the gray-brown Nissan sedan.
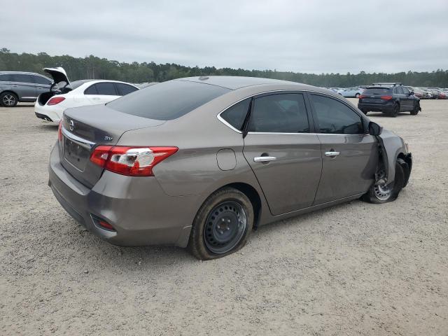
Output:
<instances>
[{"instance_id":1,"label":"rear bumper of the gray-brown Nissan sedan","mask_svg":"<svg viewBox=\"0 0 448 336\"><path fill-rule=\"evenodd\" d=\"M120 246L186 247L199 197L172 197L154 177L130 177L105 171L92 188L69 174L57 145L48 167L48 186L66 212L101 239ZM115 231L102 228L98 219Z\"/></svg>"}]
</instances>

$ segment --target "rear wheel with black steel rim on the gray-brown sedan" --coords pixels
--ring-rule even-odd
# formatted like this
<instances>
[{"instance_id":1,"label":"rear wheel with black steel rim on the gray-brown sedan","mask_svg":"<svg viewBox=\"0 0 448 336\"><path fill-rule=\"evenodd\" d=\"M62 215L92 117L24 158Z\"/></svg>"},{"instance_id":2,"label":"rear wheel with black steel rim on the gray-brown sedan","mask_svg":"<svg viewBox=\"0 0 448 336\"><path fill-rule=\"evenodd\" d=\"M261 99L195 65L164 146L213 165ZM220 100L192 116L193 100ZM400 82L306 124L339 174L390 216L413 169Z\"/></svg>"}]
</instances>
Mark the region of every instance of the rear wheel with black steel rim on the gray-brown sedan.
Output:
<instances>
[{"instance_id":1,"label":"rear wheel with black steel rim on the gray-brown sedan","mask_svg":"<svg viewBox=\"0 0 448 336\"><path fill-rule=\"evenodd\" d=\"M211 194L193 221L188 250L197 259L221 258L246 244L253 228L251 201L235 188Z\"/></svg>"}]
</instances>

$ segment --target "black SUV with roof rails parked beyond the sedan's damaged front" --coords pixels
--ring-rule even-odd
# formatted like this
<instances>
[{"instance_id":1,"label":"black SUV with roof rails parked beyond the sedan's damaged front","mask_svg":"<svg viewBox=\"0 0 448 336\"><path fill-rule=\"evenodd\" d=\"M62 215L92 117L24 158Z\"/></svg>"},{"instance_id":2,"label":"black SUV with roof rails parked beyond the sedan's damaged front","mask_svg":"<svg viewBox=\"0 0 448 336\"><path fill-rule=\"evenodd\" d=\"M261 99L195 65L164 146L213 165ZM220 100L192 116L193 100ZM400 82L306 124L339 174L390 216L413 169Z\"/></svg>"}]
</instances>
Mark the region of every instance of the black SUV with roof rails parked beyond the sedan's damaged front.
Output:
<instances>
[{"instance_id":1,"label":"black SUV with roof rails parked beyond the sedan's damaged front","mask_svg":"<svg viewBox=\"0 0 448 336\"><path fill-rule=\"evenodd\" d=\"M406 111L415 116L421 111L420 99L401 83L377 83L368 86L359 97L358 109L365 114L369 111L380 111L390 117L396 117L398 113Z\"/></svg>"}]
</instances>

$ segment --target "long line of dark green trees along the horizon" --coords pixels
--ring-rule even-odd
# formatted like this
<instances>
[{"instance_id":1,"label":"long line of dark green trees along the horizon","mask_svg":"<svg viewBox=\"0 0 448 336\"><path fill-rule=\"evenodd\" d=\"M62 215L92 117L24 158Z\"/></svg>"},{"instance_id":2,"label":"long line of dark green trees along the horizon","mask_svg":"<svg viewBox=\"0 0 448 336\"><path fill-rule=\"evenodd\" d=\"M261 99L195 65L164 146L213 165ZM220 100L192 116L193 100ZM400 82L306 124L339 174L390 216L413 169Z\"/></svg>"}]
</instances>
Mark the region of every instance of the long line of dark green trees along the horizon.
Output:
<instances>
[{"instance_id":1,"label":"long line of dark green trees along the horizon","mask_svg":"<svg viewBox=\"0 0 448 336\"><path fill-rule=\"evenodd\" d=\"M251 76L291 80L321 87L351 87L370 85L374 82L400 82L405 85L423 87L448 87L448 71L437 69L431 72L398 73L300 73L276 70L246 70L214 66L183 66L175 63L118 62L93 55L73 57L50 56L46 52L18 54L7 48L0 49L0 71L29 71L43 73L43 68L62 66L70 80L110 79L129 83L163 82L190 76Z\"/></svg>"}]
</instances>

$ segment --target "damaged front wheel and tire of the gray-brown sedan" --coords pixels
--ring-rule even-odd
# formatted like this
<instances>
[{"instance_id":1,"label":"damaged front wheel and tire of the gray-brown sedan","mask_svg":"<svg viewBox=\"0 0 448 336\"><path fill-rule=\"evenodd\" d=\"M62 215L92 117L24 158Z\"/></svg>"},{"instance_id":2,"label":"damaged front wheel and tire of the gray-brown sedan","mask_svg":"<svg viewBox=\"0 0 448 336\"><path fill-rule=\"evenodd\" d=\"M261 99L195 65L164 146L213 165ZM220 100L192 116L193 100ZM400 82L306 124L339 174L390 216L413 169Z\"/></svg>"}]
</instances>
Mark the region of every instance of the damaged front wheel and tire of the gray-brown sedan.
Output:
<instances>
[{"instance_id":1,"label":"damaged front wheel and tire of the gray-brown sedan","mask_svg":"<svg viewBox=\"0 0 448 336\"><path fill-rule=\"evenodd\" d=\"M400 191L405 186L405 172L397 161L395 162L395 181L393 188L387 186L371 186L369 191L363 195L362 200L374 204L382 204L395 201L400 194Z\"/></svg>"}]
</instances>

